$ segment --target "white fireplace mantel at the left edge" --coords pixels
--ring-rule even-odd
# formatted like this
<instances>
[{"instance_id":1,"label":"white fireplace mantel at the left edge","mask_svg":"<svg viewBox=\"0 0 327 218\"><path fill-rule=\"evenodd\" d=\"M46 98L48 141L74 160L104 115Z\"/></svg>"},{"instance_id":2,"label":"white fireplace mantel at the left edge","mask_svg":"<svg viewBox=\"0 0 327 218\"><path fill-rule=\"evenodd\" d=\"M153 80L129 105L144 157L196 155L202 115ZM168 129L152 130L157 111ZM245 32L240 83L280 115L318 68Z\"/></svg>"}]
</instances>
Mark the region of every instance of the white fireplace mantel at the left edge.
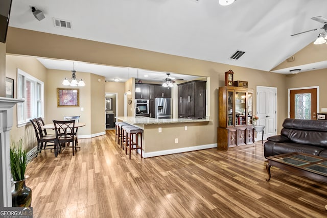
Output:
<instances>
[{"instance_id":1,"label":"white fireplace mantel at the left edge","mask_svg":"<svg viewBox=\"0 0 327 218\"><path fill-rule=\"evenodd\" d=\"M24 100L0 97L0 207L11 207L11 181L10 181L10 134L13 125L13 107Z\"/></svg>"}]
</instances>

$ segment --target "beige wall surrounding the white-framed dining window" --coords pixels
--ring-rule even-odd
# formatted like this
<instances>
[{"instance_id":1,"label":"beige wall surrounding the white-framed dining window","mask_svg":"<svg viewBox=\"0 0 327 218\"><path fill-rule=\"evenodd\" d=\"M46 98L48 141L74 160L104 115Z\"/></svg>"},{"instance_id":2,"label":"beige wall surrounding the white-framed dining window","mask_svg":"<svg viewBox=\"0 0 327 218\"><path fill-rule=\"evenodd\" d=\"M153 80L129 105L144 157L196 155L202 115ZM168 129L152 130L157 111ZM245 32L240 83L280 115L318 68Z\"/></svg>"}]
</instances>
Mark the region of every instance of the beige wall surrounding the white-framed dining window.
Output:
<instances>
[{"instance_id":1,"label":"beige wall surrounding the white-framed dining window","mask_svg":"<svg viewBox=\"0 0 327 218\"><path fill-rule=\"evenodd\" d=\"M6 76L15 80L14 82L14 98L17 98L17 68L27 72L29 75L44 82L46 87L46 68L38 62L35 58L7 55L6 56ZM48 92L44 89L44 95L48 95ZM44 111L46 115L46 111ZM36 137L34 129L31 125L17 128L17 106L13 108L13 127L10 131L10 136L16 138L22 138L24 146L27 149L33 148L36 145Z\"/></svg>"}]
</instances>

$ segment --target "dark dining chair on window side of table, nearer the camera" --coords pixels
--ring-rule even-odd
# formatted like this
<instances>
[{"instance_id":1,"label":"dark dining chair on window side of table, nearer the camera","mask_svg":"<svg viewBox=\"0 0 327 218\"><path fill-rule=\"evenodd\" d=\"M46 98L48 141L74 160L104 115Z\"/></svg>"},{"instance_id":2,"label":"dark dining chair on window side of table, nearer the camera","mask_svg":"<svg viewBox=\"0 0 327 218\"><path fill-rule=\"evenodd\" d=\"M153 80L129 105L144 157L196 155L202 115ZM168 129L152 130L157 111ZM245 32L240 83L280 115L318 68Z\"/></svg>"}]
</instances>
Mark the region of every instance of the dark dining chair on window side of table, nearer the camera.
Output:
<instances>
[{"instance_id":1,"label":"dark dining chair on window side of table, nearer the camera","mask_svg":"<svg viewBox=\"0 0 327 218\"><path fill-rule=\"evenodd\" d=\"M56 149L56 136L53 135L53 134L43 135L42 129L39 127L38 121L37 121L36 118L30 119L30 122L32 123L33 128L35 130L35 136L36 136L36 139L37 139L37 150L38 150L38 152L41 152L43 144L44 144L44 149L45 149L46 143L48 143L48 146L49 146L49 143L51 143L50 146L53 146L53 148L48 148L48 149L54 150L55 151L55 157L57 157L58 150Z\"/></svg>"}]
</instances>

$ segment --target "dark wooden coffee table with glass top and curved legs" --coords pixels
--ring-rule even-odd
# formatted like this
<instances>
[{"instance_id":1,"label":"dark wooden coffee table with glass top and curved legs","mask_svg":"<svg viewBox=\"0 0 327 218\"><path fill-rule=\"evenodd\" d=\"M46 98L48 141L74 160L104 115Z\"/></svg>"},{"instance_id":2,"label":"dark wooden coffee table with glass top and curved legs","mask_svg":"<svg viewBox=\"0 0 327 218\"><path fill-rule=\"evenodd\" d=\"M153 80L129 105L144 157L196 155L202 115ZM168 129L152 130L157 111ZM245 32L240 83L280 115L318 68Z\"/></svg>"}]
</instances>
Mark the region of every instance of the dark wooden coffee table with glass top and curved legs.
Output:
<instances>
[{"instance_id":1,"label":"dark wooden coffee table with glass top and curved legs","mask_svg":"<svg viewBox=\"0 0 327 218\"><path fill-rule=\"evenodd\" d=\"M267 157L266 169L270 181L270 167L276 166L298 176L305 176L327 183L327 158L304 153L287 153Z\"/></svg>"}]
</instances>

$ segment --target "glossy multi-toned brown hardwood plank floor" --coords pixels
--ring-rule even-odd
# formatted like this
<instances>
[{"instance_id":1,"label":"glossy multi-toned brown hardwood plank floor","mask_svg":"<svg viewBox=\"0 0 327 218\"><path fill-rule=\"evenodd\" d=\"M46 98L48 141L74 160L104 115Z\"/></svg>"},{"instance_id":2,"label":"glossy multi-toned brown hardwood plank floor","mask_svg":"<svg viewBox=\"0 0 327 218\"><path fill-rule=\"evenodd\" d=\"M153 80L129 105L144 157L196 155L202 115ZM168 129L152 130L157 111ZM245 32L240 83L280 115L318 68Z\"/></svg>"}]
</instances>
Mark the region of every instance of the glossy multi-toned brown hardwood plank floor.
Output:
<instances>
[{"instance_id":1,"label":"glossy multi-toned brown hardwood plank floor","mask_svg":"<svg viewBox=\"0 0 327 218\"><path fill-rule=\"evenodd\" d=\"M33 217L326 217L327 184L271 167L255 147L140 158L114 130L79 139L57 158L43 150L27 169Z\"/></svg>"}]
</instances>

